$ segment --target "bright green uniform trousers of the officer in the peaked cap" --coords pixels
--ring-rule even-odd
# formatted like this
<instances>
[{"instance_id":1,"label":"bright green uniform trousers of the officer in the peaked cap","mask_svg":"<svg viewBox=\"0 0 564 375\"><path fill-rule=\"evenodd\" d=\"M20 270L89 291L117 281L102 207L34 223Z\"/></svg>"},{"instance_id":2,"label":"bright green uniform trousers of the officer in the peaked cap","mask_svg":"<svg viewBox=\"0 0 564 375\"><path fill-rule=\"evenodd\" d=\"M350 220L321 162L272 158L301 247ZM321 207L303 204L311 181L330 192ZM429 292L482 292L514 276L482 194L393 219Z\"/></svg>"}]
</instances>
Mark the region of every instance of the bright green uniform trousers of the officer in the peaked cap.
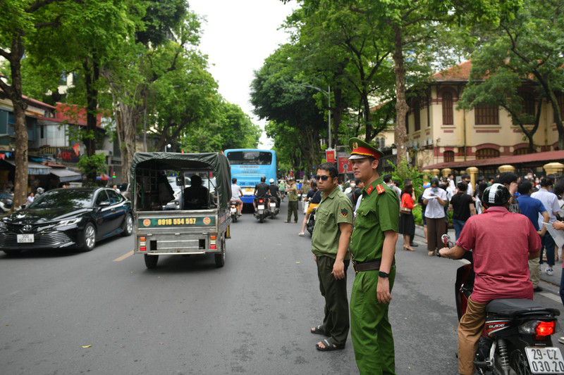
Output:
<instances>
[{"instance_id":1,"label":"bright green uniform trousers of the officer in the peaked cap","mask_svg":"<svg viewBox=\"0 0 564 375\"><path fill-rule=\"evenodd\" d=\"M392 266L390 292L395 278L396 266ZM350 294L350 338L361 375L396 374L389 305L378 302L377 286L377 270L359 272Z\"/></svg>"}]
</instances>

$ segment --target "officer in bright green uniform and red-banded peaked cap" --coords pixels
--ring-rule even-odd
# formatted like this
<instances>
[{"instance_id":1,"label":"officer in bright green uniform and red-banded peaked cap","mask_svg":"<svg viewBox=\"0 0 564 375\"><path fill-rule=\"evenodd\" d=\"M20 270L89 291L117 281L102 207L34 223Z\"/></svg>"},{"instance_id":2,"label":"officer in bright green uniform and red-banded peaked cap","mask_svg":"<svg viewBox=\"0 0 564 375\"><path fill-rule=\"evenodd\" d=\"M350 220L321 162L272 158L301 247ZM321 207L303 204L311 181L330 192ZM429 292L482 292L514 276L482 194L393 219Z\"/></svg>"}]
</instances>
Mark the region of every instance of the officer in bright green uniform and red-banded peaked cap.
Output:
<instances>
[{"instance_id":1,"label":"officer in bright green uniform and red-banded peaked cap","mask_svg":"<svg viewBox=\"0 0 564 375\"><path fill-rule=\"evenodd\" d=\"M383 154L357 138L349 146L355 178L364 182L350 243L355 268L350 337L360 374L396 374L388 306L396 277L400 202L376 171Z\"/></svg>"}]
</instances>

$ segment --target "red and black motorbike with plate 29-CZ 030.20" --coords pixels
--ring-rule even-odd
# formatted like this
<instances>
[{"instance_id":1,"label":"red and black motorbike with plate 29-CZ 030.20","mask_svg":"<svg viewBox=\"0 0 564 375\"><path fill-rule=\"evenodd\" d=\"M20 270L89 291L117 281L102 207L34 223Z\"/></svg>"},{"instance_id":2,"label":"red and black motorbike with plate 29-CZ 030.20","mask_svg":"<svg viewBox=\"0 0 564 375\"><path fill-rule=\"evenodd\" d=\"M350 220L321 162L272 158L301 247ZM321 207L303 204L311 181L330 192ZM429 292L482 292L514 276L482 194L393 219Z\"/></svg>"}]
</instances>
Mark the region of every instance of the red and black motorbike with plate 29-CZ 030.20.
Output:
<instances>
[{"instance_id":1,"label":"red and black motorbike with plate 29-CZ 030.20","mask_svg":"<svg viewBox=\"0 0 564 375\"><path fill-rule=\"evenodd\" d=\"M449 248L453 246L448 234L443 234L443 243ZM464 258L470 264L458 268L455 280L459 321L474 288L472 253L466 254ZM553 347L551 340L551 335L558 331L558 315L560 311L533 300L491 300L486 305L486 324L474 357L477 374L564 374L562 352Z\"/></svg>"}]
</instances>

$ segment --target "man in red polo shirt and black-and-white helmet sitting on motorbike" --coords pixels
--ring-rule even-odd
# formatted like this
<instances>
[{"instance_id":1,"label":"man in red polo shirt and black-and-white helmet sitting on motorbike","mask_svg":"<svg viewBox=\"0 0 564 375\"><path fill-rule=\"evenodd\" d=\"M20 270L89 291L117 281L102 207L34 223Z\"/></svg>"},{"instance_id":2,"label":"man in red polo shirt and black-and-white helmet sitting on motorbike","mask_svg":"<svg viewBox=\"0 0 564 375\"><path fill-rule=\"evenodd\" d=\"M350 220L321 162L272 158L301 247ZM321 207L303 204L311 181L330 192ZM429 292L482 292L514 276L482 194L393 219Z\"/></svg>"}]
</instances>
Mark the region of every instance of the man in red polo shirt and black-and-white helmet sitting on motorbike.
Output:
<instances>
[{"instance_id":1,"label":"man in red polo shirt and black-and-white helmet sitting on motorbike","mask_svg":"<svg viewBox=\"0 0 564 375\"><path fill-rule=\"evenodd\" d=\"M508 211L510 199L502 184L488 186L482 200L486 212L467 220L453 248L439 250L444 258L458 259L474 249L474 289L458 324L462 375L474 374L472 362L486 322L486 304L498 298L533 299L528 260L539 258L541 239L525 215Z\"/></svg>"}]
</instances>

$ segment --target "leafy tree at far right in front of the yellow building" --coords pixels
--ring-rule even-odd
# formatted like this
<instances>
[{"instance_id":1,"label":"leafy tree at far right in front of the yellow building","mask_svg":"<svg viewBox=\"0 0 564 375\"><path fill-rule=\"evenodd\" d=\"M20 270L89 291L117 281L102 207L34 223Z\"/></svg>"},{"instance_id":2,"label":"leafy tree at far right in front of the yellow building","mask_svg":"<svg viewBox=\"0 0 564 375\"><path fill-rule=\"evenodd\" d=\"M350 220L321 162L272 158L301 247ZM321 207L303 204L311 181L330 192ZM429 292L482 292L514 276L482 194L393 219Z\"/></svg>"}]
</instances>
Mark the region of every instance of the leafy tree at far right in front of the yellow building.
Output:
<instances>
[{"instance_id":1,"label":"leafy tree at far right in front of the yellow building","mask_svg":"<svg viewBox=\"0 0 564 375\"><path fill-rule=\"evenodd\" d=\"M542 98L550 103L558 129L558 149L564 149L564 114L556 97L556 94L564 93L564 56L560 43L564 39L564 15L561 7L558 1L524 1L522 8L513 9L499 20L497 27L489 32L489 39L472 57L472 78L482 80L486 72L489 77L484 87L471 88L465 102L477 103L483 97L496 100L520 125L529 139L530 151L538 118L531 121L523 116L525 110L518 89L525 83L537 91L537 116L540 115ZM534 123L534 126L528 129L523 123Z\"/></svg>"}]
</instances>

